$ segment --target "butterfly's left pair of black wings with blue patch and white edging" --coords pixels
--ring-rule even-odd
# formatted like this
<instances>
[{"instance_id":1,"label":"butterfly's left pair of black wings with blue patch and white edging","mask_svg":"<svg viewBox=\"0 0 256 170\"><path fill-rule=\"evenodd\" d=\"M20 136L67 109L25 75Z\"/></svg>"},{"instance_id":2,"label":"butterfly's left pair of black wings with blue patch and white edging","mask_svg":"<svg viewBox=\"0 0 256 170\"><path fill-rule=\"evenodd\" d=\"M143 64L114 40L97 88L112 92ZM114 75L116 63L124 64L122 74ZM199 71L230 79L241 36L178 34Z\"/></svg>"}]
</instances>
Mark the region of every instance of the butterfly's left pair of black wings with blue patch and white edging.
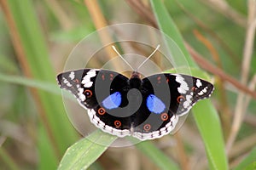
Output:
<instances>
[{"instance_id":1,"label":"butterfly's left pair of black wings with blue patch and white edging","mask_svg":"<svg viewBox=\"0 0 256 170\"><path fill-rule=\"evenodd\" d=\"M130 134L131 117L121 111L128 105L128 78L114 71L84 69L57 76L61 88L70 91L85 109L90 121L107 133Z\"/></svg>"}]
</instances>

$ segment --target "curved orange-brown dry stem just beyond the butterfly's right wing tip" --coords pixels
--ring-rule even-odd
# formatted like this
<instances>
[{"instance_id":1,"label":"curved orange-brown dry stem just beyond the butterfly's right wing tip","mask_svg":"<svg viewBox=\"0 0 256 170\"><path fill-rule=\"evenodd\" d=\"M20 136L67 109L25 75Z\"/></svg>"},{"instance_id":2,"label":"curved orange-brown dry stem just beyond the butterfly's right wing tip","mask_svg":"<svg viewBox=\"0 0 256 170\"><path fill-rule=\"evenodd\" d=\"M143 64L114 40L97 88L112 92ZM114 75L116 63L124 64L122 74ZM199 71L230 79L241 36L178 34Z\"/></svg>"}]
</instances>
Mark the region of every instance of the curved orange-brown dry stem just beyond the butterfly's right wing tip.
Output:
<instances>
[{"instance_id":1,"label":"curved orange-brown dry stem just beyond the butterfly's right wing tip","mask_svg":"<svg viewBox=\"0 0 256 170\"><path fill-rule=\"evenodd\" d=\"M221 64L221 61L218 56L217 50L213 47L212 42L208 41L206 37L203 37L199 31L194 31L195 37L197 37L198 40L200 40L210 51L210 54L212 55L212 59L217 63L218 68L223 70L223 66ZM224 127L224 136L226 137L230 133L230 107L228 104L227 94L224 89L224 82L220 80L219 77L217 77L216 85L218 86L219 90L219 105L220 105L220 111L222 112L219 114L221 117L221 122L223 123Z\"/></svg>"}]
</instances>

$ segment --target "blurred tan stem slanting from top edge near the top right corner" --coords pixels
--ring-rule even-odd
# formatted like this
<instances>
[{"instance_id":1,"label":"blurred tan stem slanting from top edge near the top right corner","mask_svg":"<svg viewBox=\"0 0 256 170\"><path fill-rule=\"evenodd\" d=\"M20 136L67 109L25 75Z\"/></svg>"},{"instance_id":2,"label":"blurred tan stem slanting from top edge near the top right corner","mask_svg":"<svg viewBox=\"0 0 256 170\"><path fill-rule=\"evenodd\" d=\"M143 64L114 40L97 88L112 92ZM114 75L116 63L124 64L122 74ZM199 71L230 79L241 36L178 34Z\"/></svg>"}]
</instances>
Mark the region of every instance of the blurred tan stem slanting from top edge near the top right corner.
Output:
<instances>
[{"instance_id":1,"label":"blurred tan stem slanting from top edge near the top right corner","mask_svg":"<svg viewBox=\"0 0 256 170\"><path fill-rule=\"evenodd\" d=\"M220 14L224 14L230 20L233 20L237 25L241 27L247 26L246 18L238 13L234 8L224 0L201 0L202 3L206 3L209 7L214 10L218 10Z\"/></svg>"}]
</instances>

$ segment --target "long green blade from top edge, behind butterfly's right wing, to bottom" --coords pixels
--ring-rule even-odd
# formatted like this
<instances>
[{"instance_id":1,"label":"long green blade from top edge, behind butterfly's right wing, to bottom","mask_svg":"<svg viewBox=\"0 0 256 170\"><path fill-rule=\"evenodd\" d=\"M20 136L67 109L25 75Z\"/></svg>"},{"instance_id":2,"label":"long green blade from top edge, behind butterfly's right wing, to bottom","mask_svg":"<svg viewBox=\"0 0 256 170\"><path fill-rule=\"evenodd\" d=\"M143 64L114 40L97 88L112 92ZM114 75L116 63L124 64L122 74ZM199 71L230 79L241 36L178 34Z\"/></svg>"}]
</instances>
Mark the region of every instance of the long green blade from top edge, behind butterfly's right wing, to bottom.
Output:
<instances>
[{"instance_id":1,"label":"long green blade from top edge, behind butterfly's right wing, to bottom","mask_svg":"<svg viewBox=\"0 0 256 170\"><path fill-rule=\"evenodd\" d=\"M187 49L183 45L183 39L171 16L168 14L164 4L158 0L151 0L154 15L158 22L160 30L172 37L177 46L181 48L190 67L196 67L193 59L190 58ZM179 56L173 55L174 58ZM175 59L178 60L178 59ZM182 66L182 63L178 63ZM204 77L204 74L197 73L196 77ZM210 100L203 100L197 103L192 109L195 116L195 122L207 150L207 157L211 169L228 169L227 157L224 151L224 139L221 131L217 111L212 106Z\"/></svg>"}]
</instances>

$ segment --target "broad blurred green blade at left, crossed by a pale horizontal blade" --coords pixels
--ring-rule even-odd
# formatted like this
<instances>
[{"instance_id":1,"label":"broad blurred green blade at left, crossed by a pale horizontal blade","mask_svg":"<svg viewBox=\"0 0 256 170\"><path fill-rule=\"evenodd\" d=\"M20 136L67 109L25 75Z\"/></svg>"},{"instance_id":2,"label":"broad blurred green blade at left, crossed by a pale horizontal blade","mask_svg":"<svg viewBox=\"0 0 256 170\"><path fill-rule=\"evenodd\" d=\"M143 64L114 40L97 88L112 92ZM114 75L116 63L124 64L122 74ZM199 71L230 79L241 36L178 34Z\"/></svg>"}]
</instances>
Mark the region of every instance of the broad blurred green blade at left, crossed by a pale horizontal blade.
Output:
<instances>
[{"instance_id":1,"label":"broad blurred green blade at left, crossed by a pale horizontal blade","mask_svg":"<svg viewBox=\"0 0 256 170\"><path fill-rule=\"evenodd\" d=\"M32 77L44 82L56 83L55 72L50 64L44 36L32 1L9 0L8 3L20 36L20 46L26 54L26 65L30 68ZM44 116L56 143L55 147L60 150L60 155L77 139L77 133L67 119L61 96L42 90L38 90L38 94L44 108Z\"/></svg>"}]
</instances>

